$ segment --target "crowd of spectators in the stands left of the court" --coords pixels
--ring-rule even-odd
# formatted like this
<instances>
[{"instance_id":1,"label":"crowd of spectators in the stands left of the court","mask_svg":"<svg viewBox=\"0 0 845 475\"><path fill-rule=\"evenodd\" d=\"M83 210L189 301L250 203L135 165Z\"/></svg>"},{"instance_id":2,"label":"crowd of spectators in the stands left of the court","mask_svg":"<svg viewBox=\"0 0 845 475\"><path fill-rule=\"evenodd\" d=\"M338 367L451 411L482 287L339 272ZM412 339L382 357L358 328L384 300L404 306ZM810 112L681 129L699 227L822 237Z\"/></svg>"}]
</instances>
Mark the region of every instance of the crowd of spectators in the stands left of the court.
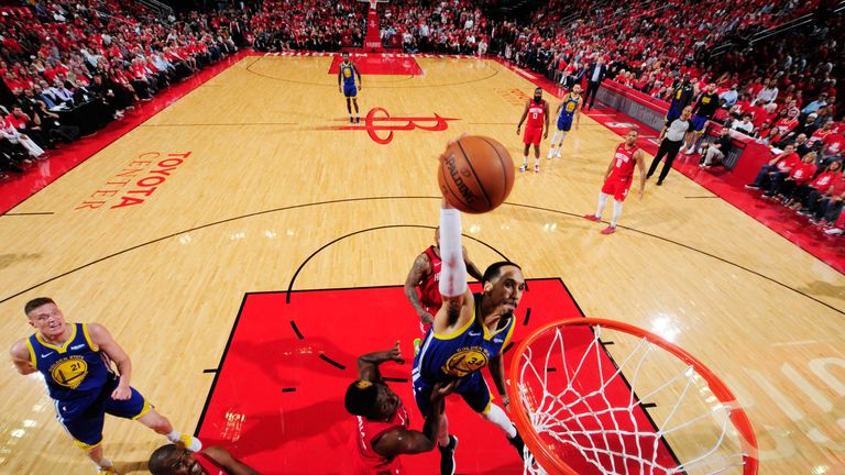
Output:
<instances>
[{"instance_id":1,"label":"crowd of spectators in the stands left of the court","mask_svg":"<svg viewBox=\"0 0 845 475\"><path fill-rule=\"evenodd\" d=\"M51 148L96 133L235 52L241 24L237 14L213 12L169 22L131 0L3 9L0 174L48 158Z\"/></svg>"}]
</instances>

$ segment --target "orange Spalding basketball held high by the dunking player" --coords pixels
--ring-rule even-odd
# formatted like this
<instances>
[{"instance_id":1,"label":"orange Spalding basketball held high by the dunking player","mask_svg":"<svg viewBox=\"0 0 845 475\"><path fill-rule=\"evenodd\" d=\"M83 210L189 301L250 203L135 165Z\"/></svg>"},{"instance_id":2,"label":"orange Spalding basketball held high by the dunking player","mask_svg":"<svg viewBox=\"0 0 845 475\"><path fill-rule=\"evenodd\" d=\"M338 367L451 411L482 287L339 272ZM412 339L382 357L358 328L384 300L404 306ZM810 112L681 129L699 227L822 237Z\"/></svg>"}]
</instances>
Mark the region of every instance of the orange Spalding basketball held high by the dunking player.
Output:
<instances>
[{"instance_id":1,"label":"orange Spalding basketball held high by the dunking player","mask_svg":"<svg viewBox=\"0 0 845 475\"><path fill-rule=\"evenodd\" d=\"M502 205L514 187L514 162L501 143L469 135L450 144L437 173L440 192L468 213L484 213Z\"/></svg>"}]
</instances>

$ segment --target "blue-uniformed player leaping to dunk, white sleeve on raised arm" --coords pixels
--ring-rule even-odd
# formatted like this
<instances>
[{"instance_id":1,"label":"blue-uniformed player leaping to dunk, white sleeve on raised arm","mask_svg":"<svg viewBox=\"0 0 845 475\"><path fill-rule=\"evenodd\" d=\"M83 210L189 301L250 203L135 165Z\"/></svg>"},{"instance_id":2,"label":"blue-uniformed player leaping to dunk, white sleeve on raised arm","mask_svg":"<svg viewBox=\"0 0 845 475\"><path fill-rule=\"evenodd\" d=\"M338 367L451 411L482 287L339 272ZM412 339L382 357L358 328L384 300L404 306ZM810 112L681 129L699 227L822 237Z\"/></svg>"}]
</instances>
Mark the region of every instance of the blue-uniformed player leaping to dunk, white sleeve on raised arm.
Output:
<instances>
[{"instance_id":1,"label":"blue-uniformed player leaping to dunk, white sleeve on raised arm","mask_svg":"<svg viewBox=\"0 0 845 475\"><path fill-rule=\"evenodd\" d=\"M443 259L439 289L443 305L426 333L410 373L414 397L420 412L437 417L430 404L436 384L456 383L454 391L484 419L507 435L523 455L524 443L501 407L493 404L487 384L479 369L487 366L505 408L508 407L502 351L516 325L514 310L525 290L519 266L498 262L484 272L483 294L474 295L467 286L467 267L461 253L461 213L446 200L440 209L440 255ZM449 435L446 412L441 413L438 445L440 473L454 473L458 439Z\"/></svg>"}]
</instances>

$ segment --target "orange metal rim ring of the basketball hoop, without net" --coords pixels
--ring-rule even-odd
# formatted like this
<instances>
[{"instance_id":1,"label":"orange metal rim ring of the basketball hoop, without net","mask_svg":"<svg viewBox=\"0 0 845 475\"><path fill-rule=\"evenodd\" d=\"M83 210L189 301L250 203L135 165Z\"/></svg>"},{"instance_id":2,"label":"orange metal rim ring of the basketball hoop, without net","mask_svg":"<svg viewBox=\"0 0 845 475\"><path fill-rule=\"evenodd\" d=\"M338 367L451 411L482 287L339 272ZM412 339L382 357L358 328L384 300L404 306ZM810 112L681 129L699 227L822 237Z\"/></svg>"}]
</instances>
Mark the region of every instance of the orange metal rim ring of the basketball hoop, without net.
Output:
<instances>
[{"instance_id":1,"label":"orange metal rim ring of the basketball hoop, without net","mask_svg":"<svg viewBox=\"0 0 845 475\"><path fill-rule=\"evenodd\" d=\"M551 329L575 325L604 327L607 329L628 333L634 336L645 338L649 342L660 346L669 353L672 353L674 356L695 368L695 372L698 372L698 374L707 382L711 391L716 398L718 398L720 402L732 408L729 411L729 418L731 422L733 422L734 427L739 433L739 442L743 448L744 475L757 474L759 466L759 462L757 460L757 438L754 435L751 421L748 419L748 415L745 413L745 410L743 410L743 408L737 402L736 396L734 396L731 389L728 389L722 379L720 379L712 371L710 371L709 367L689 354L685 350L647 330L643 330L640 328L614 320L596 318L578 318L547 323L525 338L525 340L523 340L516 347L516 353L513 361L511 362L512 379L516 378L516 375L520 374L520 364L524 360L525 350L530 346L534 341L536 341L540 335ZM507 394L511 400L522 401L517 386L518 385L516 382L512 380L507 386ZM579 475L574 470L572 470L571 466L569 466L557 454L555 454L546 445L546 443L542 442L542 440L540 440L539 434L536 430L534 430L534 426L531 426L531 421L528 420L528 415L525 412L525 410L522 410L522 402L519 406L520 410L514 411L512 417L514 418L514 423L516 423L516 427L519 429L519 433L522 434L525 444L531 451L531 455L534 455L534 459L538 462L538 464L548 473L556 473L561 475Z\"/></svg>"}]
</instances>

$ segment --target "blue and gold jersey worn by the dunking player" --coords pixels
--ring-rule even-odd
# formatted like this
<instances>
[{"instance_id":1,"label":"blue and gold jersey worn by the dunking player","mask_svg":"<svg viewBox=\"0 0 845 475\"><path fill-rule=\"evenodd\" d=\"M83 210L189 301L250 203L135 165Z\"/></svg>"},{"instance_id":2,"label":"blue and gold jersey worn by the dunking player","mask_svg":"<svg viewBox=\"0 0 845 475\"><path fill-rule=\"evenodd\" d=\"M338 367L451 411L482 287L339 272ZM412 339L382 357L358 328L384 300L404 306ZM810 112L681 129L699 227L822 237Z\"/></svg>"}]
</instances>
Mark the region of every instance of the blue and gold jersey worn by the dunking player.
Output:
<instances>
[{"instance_id":1,"label":"blue and gold jersey worn by the dunking player","mask_svg":"<svg viewBox=\"0 0 845 475\"><path fill-rule=\"evenodd\" d=\"M513 335L514 318L490 331L478 319L481 298L480 294L475 295L475 311L463 328L447 335L435 333L434 328L428 331L414 358L415 379L422 377L429 384L460 379L483 368L502 353Z\"/></svg>"}]
</instances>

